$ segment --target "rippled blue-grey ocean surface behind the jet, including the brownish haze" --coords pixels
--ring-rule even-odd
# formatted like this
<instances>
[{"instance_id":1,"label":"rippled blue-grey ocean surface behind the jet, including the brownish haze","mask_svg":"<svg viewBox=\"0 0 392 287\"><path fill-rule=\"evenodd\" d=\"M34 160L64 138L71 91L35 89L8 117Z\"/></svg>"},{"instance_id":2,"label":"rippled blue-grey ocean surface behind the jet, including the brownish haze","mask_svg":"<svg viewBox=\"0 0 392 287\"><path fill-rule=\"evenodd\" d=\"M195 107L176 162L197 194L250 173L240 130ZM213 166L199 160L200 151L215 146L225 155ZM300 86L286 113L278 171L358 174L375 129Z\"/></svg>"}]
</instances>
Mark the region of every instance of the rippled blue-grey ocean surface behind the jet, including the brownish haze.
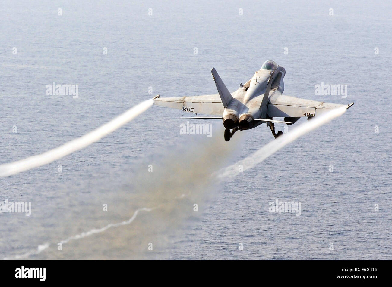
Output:
<instances>
[{"instance_id":1,"label":"rippled blue-grey ocean surface behind the jet, including the brownish haze","mask_svg":"<svg viewBox=\"0 0 392 287\"><path fill-rule=\"evenodd\" d=\"M184 113L153 106L85 149L0 178L0 201L32 206L30 216L0 213L0 258L391 259L387 2L1 4L0 163L58 147L158 93L217 93L213 67L232 91L273 59L286 69L285 95L355 105L222 182L209 174L273 140L269 128L228 143L219 121L211 138L181 135ZM53 82L78 84L78 98L47 95ZM347 84L347 98L315 95L322 82ZM269 212L277 199L301 202L301 215ZM151 211L132 219L140 208Z\"/></svg>"}]
</instances>

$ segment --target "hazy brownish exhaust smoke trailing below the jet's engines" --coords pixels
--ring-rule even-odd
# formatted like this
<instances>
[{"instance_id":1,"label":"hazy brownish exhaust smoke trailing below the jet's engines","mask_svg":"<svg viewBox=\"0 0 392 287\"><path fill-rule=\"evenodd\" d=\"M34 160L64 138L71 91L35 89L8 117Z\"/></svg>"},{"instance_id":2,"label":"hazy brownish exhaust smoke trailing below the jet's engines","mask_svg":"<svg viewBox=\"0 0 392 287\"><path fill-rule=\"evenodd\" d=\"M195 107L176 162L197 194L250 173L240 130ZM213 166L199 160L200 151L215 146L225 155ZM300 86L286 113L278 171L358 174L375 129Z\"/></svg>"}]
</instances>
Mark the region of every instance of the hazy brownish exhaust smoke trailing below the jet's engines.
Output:
<instances>
[{"instance_id":1,"label":"hazy brownish exhaust smoke trailing below the jet's engines","mask_svg":"<svg viewBox=\"0 0 392 287\"><path fill-rule=\"evenodd\" d=\"M134 172L124 172L122 178L116 178L123 182L123 188L112 190L105 183L105 192L90 194L87 203L73 204L68 208L69 215L56 213L58 218L54 217L53 221L66 219L54 230L43 230L45 244L39 244L40 248L8 255L5 259L167 257L172 236L183 231L185 224L199 222L203 211L218 195L220 186L215 186L211 174L235 159L241 137L233 138L227 145L222 134L223 127L217 124L213 126L211 138L184 135L174 146L157 149L135 162L131 167ZM149 165L152 172L148 170ZM108 212L102 212L99 207L102 203L108 203ZM143 209L135 213L141 208L151 211ZM124 221L124 218L132 220ZM57 249L59 243L63 245L62 251ZM154 252L148 251L149 243Z\"/></svg>"}]
</instances>

